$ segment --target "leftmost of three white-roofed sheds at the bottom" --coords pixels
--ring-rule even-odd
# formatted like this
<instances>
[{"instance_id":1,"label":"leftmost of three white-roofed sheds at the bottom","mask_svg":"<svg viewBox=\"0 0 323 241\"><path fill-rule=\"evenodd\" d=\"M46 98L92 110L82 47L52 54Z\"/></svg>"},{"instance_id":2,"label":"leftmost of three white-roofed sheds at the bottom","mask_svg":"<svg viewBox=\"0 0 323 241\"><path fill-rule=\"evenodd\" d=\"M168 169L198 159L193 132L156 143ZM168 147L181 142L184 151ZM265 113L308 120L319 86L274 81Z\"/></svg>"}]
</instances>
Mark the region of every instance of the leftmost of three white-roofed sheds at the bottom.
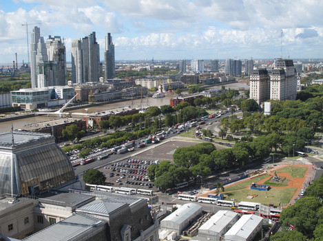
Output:
<instances>
[{"instance_id":1,"label":"leftmost of three white-roofed sheds at the bottom","mask_svg":"<svg viewBox=\"0 0 323 241\"><path fill-rule=\"evenodd\" d=\"M185 228L193 223L194 218L202 215L202 206L196 203L186 203L160 221L160 232L167 229L180 235Z\"/></svg>"}]
</instances>

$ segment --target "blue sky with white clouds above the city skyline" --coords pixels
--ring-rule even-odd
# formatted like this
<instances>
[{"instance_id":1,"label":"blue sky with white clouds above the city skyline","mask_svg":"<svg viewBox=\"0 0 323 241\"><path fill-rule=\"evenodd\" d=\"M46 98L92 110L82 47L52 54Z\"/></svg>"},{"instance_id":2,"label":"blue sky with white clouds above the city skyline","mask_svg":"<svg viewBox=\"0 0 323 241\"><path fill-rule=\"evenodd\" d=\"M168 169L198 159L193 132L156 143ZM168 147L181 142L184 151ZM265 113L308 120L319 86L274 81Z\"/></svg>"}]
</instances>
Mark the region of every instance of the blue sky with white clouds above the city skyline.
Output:
<instances>
[{"instance_id":1,"label":"blue sky with white clouds above the city skyline","mask_svg":"<svg viewBox=\"0 0 323 241\"><path fill-rule=\"evenodd\" d=\"M0 0L0 63L28 62L26 26L72 41L112 34L116 60L323 57L322 0Z\"/></svg>"}]
</instances>

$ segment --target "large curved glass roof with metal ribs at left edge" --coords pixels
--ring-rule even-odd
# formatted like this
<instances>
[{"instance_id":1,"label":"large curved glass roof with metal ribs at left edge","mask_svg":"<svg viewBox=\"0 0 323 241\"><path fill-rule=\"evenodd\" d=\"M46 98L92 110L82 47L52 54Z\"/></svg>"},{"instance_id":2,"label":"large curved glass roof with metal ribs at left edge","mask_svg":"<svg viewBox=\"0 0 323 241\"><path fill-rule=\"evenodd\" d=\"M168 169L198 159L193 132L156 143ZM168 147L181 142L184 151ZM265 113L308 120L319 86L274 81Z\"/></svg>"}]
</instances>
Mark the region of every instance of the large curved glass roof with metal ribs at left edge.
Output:
<instances>
[{"instance_id":1,"label":"large curved glass roof with metal ribs at left edge","mask_svg":"<svg viewBox=\"0 0 323 241\"><path fill-rule=\"evenodd\" d=\"M0 134L0 195L37 195L75 181L70 159L51 135Z\"/></svg>"}]
</instances>

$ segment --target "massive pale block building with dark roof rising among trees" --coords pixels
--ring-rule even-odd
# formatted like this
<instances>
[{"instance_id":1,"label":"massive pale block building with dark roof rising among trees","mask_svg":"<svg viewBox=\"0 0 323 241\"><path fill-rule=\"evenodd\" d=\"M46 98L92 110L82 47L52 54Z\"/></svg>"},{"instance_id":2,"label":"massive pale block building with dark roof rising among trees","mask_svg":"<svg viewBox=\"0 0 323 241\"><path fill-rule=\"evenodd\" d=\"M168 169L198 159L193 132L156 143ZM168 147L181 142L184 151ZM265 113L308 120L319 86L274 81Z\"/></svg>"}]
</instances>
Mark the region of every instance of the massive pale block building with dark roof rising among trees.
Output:
<instances>
[{"instance_id":1,"label":"massive pale block building with dark roof rising among trees","mask_svg":"<svg viewBox=\"0 0 323 241\"><path fill-rule=\"evenodd\" d=\"M296 70L293 60L278 58L272 69L254 70L250 76L250 98L258 104L266 100L295 100Z\"/></svg>"}]
</instances>

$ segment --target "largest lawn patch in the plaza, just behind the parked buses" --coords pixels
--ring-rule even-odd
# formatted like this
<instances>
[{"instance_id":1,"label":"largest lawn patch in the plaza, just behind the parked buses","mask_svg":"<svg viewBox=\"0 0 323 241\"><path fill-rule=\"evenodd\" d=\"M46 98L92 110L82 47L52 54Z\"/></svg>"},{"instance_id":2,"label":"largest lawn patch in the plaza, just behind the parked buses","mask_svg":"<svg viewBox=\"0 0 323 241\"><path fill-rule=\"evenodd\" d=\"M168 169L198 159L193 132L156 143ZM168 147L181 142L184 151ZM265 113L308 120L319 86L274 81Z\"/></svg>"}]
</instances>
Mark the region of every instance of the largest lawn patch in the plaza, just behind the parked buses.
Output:
<instances>
[{"instance_id":1,"label":"largest lawn patch in the plaza, just behind the parked buses","mask_svg":"<svg viewBox=\"0 0 323 241\"><path fill-rule=\"evenodd\" d=\"M226 200L234 200L236 203L239 203L240 201L247 201L253 203L262 203L264 205L273 203L273 205L279 206L279 202L282 203L282 205L287 205L297 190L298 189L296 187L284 189L271 188L271 190L267 191L266 197L265 191L248 189L225 193L225 196L227 197ZM249 199L247 198L248 194L258 194L258 196Z\"/></svg>"}]
</instances>

